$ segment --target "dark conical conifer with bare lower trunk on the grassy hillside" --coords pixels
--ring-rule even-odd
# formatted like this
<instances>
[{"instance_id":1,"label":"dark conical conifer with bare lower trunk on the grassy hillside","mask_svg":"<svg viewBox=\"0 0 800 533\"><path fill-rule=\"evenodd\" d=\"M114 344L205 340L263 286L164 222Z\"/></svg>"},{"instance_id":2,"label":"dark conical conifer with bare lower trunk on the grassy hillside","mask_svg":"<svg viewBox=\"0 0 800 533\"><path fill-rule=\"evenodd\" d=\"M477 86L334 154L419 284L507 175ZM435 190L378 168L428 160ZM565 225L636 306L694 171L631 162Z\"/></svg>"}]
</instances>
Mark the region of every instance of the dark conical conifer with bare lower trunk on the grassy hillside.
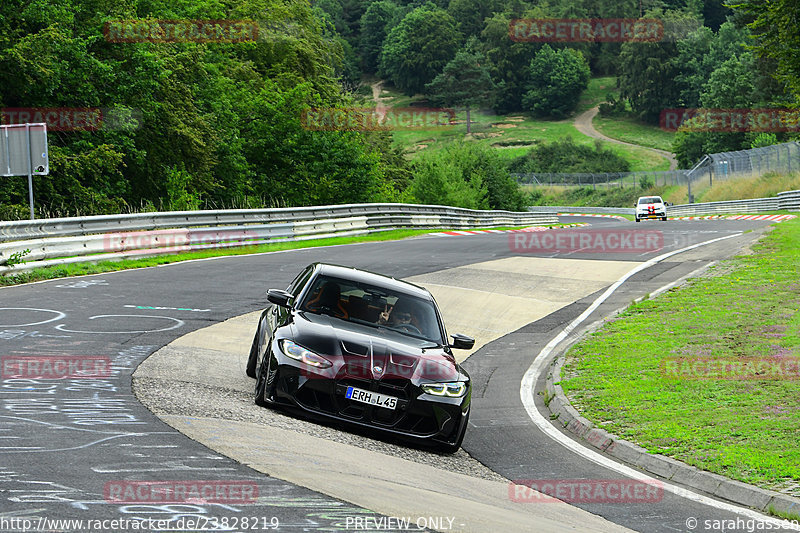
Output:
<instances>
[{"instance_id":1,"label":"dark conical conifer with bare lower trunk on the grassy hillside","mask_svg":"<svg viewBox=\"0 0 800 533\"><path fill-rule=\"evenodd\" d=\"M470 108L481 104L491 106L495 90L486 58L475 51L476 47L476 39L468 41L442 72L425 86L425 92L435 104L466 107L467 133L470 133Z\"/></svg>"}]
</instances>

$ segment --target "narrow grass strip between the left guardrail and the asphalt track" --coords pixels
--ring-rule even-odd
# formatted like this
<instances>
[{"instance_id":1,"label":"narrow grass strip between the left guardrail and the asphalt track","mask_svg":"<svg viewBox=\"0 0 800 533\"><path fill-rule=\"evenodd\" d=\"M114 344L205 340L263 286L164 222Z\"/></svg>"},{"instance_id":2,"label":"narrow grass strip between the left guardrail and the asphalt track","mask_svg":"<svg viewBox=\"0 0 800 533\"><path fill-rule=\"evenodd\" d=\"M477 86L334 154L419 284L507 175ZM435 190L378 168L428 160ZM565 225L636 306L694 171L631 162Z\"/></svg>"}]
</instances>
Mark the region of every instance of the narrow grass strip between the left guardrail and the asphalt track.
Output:
<instances>
[{"instance_id":1,"label":"narrow grass strip between the left guardrail and the asphalt track","mask_svg":"<svg viewBox=\"0 0 800 533\"><path fill-rule=\"evenodd\" d=\"M552 224L548 227L561 227L563 224ZM528 226L498 227L498 228L470 228L470 229L521 229ZM115 272L117 270L129 270L133 268L146 268L180 261L190 261L192 259L206 259L209 257L221 257L230 255L249 255L265 252L279 252L282 250L298 250L302 248L317 248L320 246L334 246L341 244L354 244L359 242L379 242L394 241L425 235L438 231L451 231L447 229L399 229L380 233L370 233L366 235L356 235L352 237L329 237L325 239L312 239L306 241L286 241L273 244L262 244L258 246L242 246L240 248L224 248L214 250L203 250L198 252L185 252L170 255L159 255L155 257L144 257L141 259L121 259L118 261L98 261L91 263L91 256L87 256L86 263L72 263L67 265L50 266L37 268L28 272L18 274L0 275L0 286L20 285L48 279L68 278L73 276L85 276L89 274L102 274L103 272Z\"/></svg>"}]
</instances>

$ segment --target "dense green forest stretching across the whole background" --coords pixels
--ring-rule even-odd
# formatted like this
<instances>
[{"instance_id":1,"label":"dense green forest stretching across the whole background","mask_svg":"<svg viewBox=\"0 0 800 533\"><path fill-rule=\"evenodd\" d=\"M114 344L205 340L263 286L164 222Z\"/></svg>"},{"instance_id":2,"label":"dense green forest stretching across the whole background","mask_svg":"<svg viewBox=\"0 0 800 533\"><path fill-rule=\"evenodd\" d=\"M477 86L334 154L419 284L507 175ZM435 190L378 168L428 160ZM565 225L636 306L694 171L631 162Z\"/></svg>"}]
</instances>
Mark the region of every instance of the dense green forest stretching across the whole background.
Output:
<instances>
[{"instance_id":1,"label":"dense green forest stretching across the whole background","mask_svg":"<svg viewBox=\"0 0 800 533\"><path fill-rule=\"evenodd\" d=\"M0 108L100 109L51 128L39 216L367 201L521 209L493 150L468 141L413 160L386 131L315 131L309 108L363 106L363 79L429 105L563 118L592 75L614 75L607 115L798 102L795 2L722 0L4 0ZM521 42L514 19L648 18L658 42ZM115 21L251 21L249 39L110 39ZM105 33L104 33L105 30ZM9 113L4 112L4 119ZM689 165L786 133L679 132ZM796 132L795 132L796 135ZM567 141L517 169L548 169ZM587 158L608 166L608 157ZM537 166L539 165L539 166ZM580 165L579 165L580 166ZM583 167L581 167L583 168ZM27 216L26 178L0 178L0 219Z\"/></svg>"}]
</instances>

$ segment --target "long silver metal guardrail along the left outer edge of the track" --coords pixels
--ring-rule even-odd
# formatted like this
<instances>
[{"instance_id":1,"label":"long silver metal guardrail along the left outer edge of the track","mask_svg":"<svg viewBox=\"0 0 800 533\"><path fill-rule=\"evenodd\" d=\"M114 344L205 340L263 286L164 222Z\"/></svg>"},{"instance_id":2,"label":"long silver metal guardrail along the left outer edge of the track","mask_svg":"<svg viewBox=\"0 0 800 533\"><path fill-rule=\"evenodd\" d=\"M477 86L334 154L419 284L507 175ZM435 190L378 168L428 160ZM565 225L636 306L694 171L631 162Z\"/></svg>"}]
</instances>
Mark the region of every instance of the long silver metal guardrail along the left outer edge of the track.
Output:
<instances>
[{"instance_id":1,"label":"long silver metal guardrail along the left outer edge of the track","mask_svg":"<svg viewBox=\"0 0 800 533\"><path fill-rule=\"evenodd\" d=\"M468 229L557 222L555 215L548 213L476 211L415 204L21 220L0 222L0 274L57 264L360 235L399 228ZM9 259L12 263L19 259L24 262L8 265Z\"/></svg>"}]
</instances>

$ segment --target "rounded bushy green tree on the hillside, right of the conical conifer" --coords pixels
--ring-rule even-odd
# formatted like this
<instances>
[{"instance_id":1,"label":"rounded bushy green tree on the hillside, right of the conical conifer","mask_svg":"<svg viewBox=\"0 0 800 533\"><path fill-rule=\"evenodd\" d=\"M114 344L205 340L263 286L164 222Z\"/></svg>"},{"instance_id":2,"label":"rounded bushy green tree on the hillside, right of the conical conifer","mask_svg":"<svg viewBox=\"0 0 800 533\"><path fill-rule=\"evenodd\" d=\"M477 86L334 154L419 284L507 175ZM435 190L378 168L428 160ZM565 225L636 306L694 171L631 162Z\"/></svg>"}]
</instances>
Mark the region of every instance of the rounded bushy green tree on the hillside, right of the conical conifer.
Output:
<instances>
[{"instance_id":1,"label":"rounded bushy green tree on the hillside, right of the conical conifer","mask_svg":"<svg viewBox=\"0 0 800 533\"><path fill-rule=\"evenodd\" d=\"M529 70L522 106L541 117L564 118L571 113L591 76L583 54L570 48L553 50L547 44L531 60Z\"/></svg>"}]
</instances>

